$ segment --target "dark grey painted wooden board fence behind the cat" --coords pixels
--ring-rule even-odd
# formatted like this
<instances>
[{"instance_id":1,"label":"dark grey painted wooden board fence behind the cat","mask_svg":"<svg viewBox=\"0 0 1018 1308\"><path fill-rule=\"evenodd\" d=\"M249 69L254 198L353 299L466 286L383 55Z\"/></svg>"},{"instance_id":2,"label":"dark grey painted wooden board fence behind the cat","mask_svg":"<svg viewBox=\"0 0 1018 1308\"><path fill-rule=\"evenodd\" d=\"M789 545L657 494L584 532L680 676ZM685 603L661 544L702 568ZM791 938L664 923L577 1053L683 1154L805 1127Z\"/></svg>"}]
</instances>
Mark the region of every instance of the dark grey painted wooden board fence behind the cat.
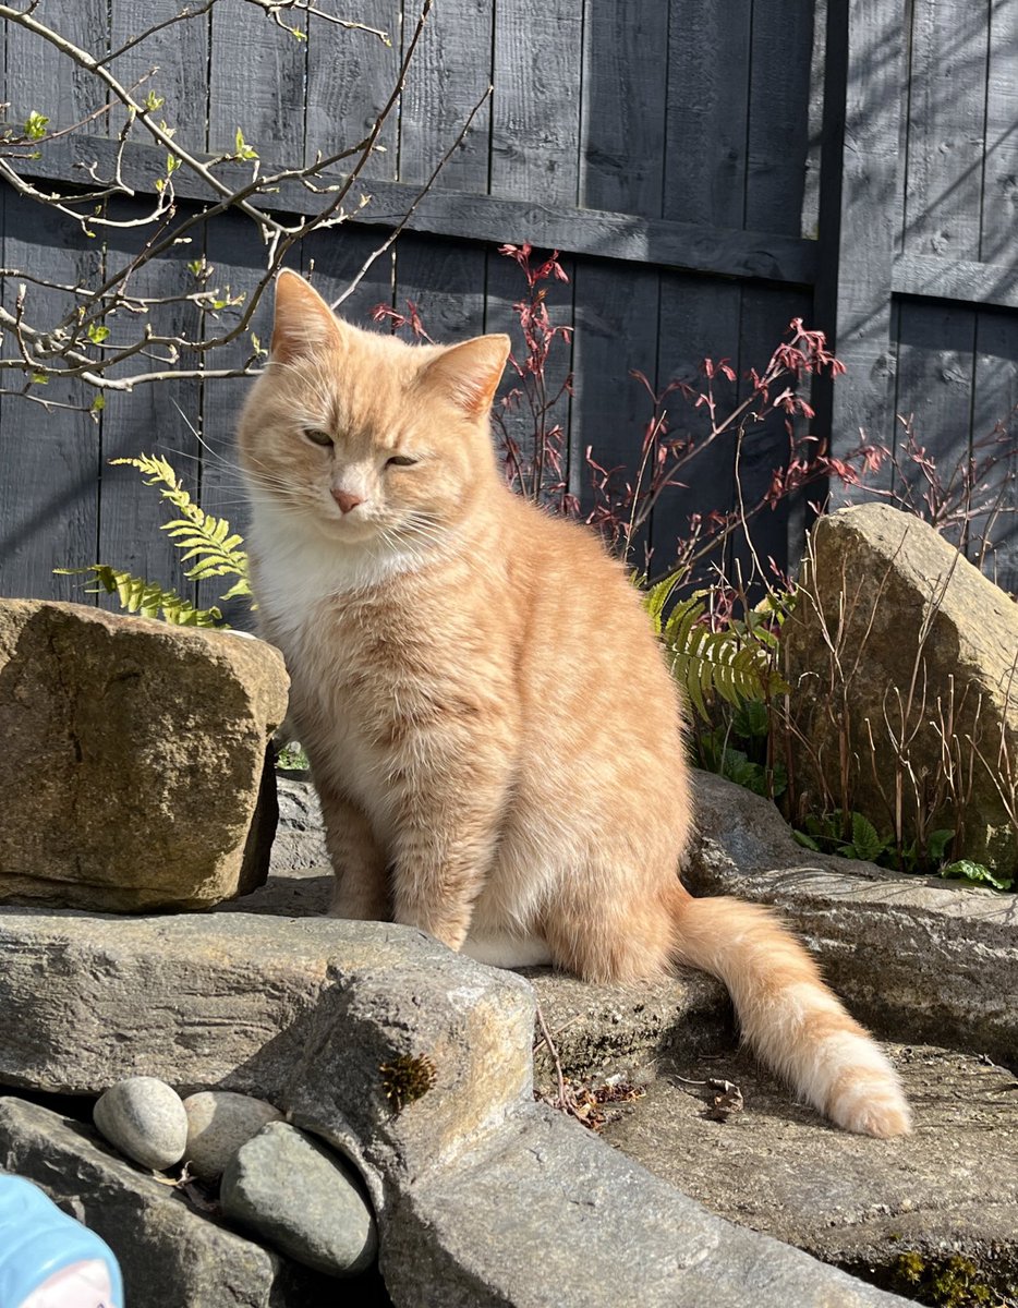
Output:
<instances>
[{"instance_id":1,"label":"dark grey painted wooden board fence behind the cat","mask_svg":"<svg viewBox=\"0 0 1018 1308\"><path fill-rule=\"evenodd\" d=\"M179 8L43 0L38 13L101 52ZM241 127L266 161L309 160L374 119L416 14L413 0L321 8L391 31L393 46L315 18L297 41L243 0L219 0L133 46L116 71L127 81L158 65L153 85L191 149L229 150ZM97 107L88 73L5 26L12 122L34 110L61 126ZM895 0L436 0L387 150L368 170L370 203L356 222L309 238L294 263L338 296L491 82L463 146L347 302L351 318L412 298L438 339L512 328L522 286L497 245L526 239L561 250L570 277L551 305L574 327L556 369L576 378L563 416L578 493L588 446L606 466L639 455L649 405L632 369L659 388L712 356L742 377L793 317L826 328L849 368L819 396L836 453L860 428L902 450L895 415L915 413L919 439L947 468L1018 403L1017 67L1018 0L905 10ZM43 152L37 171L73 179L75 164L109 160L103 132L98 119ZM150 186L143 148L126 167ZM8 187L0 201L8 272L73 283L130 250L130 232L89 241ZM289 190L279 203L314 200ZM198 254L233 290L253 285L262 250L247 218L222 213L203 239L147 266L148 292L177 293ZM10 305L16 277L3 294ZM266 335L264 315L255 326ZM111 392L98 415L0 396L0 594L80 598L52 569L97 559L177 577L157 498L131 470L109 467L118 455L165 453L208 509L242 526L229 450L246 385ZM51 383L44 398L73 405L82 391ZM754 433L741 466L747 497L784 445L781 422ZM654 514L658 568L691 511L733 502L730 447L692 471ZM760 553L794 561L803 522L801 504L767 514ZM1002 517L996 538L1000 579L1015 589L1018 528Z\"/></svg>"}]
</instances>

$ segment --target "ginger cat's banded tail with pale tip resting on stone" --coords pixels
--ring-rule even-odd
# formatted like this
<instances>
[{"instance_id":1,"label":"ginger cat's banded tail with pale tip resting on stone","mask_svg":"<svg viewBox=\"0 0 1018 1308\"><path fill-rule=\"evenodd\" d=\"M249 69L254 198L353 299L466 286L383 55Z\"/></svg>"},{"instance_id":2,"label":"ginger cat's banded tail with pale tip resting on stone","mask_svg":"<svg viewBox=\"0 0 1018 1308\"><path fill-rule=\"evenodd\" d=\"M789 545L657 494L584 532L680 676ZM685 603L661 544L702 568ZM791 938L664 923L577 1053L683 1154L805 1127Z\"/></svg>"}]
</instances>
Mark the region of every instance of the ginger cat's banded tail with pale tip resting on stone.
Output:
<instances>
[{"instance_id":1,"label":"ginger cat's banded tail with pale tip resting on stone","mask_svg":"<svg viewBox=\"0 0 1018 1308\"><path fill-rule=\"evenodd\" d=\"M802 1099L849 1131L911 1130L898 1074L769 909L676 884L671 917L675 961L725 982L745 1039Z\"/></svg>"}]
</instances>

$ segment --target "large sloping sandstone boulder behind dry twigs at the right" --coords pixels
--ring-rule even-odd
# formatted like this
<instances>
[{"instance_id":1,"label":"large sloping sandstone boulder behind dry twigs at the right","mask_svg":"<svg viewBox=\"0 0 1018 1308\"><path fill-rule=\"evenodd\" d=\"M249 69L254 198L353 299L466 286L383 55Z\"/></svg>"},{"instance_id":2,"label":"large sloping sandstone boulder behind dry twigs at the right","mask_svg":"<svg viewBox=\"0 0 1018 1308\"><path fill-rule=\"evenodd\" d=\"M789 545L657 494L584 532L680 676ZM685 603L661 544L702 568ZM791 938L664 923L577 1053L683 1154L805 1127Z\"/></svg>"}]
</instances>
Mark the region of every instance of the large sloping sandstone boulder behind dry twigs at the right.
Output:
<instances>
[{"instance_id":1,"label":"large sloping sandstone boulder behind dry twigs at the right","mask_svg":"<svg viewBox=\"0 0 1018 1308\"><path fill-rule=\"evenodd\" d=\"M822 797L822 776L891 833L900 778L907 842L919 794L954 858L1018 872L1018 604L920 519L860 505L816 523L782 647L799 793ZM945 751L960 803L936 793Z\"/></svg>"}]
</instances>

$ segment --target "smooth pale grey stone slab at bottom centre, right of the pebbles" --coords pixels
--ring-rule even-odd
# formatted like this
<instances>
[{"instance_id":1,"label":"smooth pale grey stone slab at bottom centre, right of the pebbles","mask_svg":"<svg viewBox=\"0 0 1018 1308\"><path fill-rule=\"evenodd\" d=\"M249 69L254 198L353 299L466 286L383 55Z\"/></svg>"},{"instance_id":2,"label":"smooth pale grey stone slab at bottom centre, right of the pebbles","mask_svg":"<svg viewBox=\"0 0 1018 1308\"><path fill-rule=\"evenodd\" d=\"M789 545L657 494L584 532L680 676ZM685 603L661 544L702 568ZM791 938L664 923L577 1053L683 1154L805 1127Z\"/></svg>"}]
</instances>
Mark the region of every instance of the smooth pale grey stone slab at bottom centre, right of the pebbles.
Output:
<instances>
[{"instance_id":1,"label":"smooth pale grey stone slab at bottom centre, right of the pebbles","mask_svg":"<svg viewBox=\"0 0 1018 1308\"><path fill-rule=\"evenodd\" d=\"M434 1286L442 1308L905 1303L712 1216L551 1109L407 1186L382 1274L400 1308L432 1308Z\"/></svg>"}]
</instances>

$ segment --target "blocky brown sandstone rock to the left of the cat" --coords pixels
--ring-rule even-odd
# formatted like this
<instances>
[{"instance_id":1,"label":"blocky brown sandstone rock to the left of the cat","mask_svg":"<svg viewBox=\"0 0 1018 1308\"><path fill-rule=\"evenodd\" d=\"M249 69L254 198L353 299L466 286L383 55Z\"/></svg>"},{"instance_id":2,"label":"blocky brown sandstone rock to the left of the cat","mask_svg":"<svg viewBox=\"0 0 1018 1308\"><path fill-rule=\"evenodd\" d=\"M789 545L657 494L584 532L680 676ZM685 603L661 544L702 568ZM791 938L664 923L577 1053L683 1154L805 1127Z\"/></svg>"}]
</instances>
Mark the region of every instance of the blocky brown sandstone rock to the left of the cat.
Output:
<instances>
[{"instance_id":1,"label":"blocky brown sandstone rock to the left of the cat","mask_svg":"<svg viewBox=\"0 0 1018 1308\"><path fill-rule=\"evenodd\" d=\"M0 901L203 908L266 879L280 654L0 600Z\"/></svg>"}]
</instances>

